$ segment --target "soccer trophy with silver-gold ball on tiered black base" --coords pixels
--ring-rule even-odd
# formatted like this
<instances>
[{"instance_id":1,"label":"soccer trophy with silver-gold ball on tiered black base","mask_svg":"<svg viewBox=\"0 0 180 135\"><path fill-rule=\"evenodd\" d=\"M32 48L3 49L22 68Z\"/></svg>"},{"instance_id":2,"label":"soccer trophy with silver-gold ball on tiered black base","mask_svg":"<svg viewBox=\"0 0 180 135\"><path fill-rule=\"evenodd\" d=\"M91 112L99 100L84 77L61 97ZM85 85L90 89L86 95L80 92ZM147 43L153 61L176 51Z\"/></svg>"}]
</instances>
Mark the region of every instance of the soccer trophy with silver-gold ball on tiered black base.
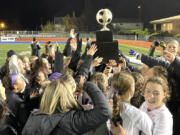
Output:
<instances>
[{"instance_id":1,"label":"soccer trophy with silver-gold ball on tiered black base","mask_svg":"<svg viewBox=\"0 0 180 135\"><path fill-rule=\"evenodd\" d=\"M118 61L118 42L113 41L113 34L107 25L112 21L112 13L109 9L101 9L96 14L96 20L103 25L100 31L96 31L96 45L98 51L95 57L103 57L103 62L108 63L109 59Z\"/></svg>"}]
</instances>

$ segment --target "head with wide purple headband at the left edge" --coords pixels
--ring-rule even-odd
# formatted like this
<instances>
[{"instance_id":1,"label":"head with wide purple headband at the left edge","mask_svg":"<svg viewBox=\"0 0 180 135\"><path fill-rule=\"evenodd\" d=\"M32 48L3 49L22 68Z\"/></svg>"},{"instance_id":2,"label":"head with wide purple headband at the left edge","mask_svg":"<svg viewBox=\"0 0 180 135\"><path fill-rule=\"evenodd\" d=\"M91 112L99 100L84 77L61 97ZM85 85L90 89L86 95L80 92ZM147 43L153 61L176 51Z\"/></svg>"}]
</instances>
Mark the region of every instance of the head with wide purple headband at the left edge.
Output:
<instances>
[{"instance_id":1,"label":"head with wide purple headband at the left edge","mask_svg":"<svg viewBox=\"0 0 180 135\"><path fill-rule=\"evenodd\" d=\"M6 75L2 82L5 89L12 90L16 93L21 92L25 87L24 79L19 74L13 73Z\"/></svg>"}]
</instances>

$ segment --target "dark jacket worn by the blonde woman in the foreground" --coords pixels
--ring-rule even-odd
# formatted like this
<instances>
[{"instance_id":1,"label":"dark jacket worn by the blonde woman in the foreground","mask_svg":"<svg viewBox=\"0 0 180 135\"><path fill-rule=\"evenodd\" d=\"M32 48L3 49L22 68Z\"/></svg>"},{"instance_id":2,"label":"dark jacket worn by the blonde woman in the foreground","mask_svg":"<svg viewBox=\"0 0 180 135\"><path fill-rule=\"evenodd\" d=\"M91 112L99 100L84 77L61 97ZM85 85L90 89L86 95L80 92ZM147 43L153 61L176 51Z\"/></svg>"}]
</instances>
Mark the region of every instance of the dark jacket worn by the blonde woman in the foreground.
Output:
<instances>
[{"instance_id":1,"label":"dark jacket worn by the blonde woman in the foreground","mask_svg":"<svg viewBox=\"0 0 180 135\"><path fill-rule=\"evenodd\" d=\"M87 82L84 90L94 102L89 111L72 109L66 113L42 114L34 111L22 132L22 135L82 135L105 123L112 114L111 108L99 88Z\"/></svg>"}]
</instances>

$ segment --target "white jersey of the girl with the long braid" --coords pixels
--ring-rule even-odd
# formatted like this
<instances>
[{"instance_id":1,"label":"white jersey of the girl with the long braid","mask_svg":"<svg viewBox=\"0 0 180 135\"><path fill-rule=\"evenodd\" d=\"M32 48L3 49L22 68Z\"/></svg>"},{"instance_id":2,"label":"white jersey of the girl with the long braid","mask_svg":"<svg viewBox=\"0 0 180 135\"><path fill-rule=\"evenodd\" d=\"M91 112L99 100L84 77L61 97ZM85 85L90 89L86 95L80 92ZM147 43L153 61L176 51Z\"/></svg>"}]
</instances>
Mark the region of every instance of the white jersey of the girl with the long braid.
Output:
<instances>
[{"instance_id":1,"label":"white jersey of the girl with the long braid","mask_svg":"<svg viewBox=\"0 0 180 135\"><path fill-rule=\"evenodd\" d=\"M152 135L152 120L138 108L123 102L120 116L127 135L139 135L139 131L145 135Z\"/></svg>"}]
</instances>

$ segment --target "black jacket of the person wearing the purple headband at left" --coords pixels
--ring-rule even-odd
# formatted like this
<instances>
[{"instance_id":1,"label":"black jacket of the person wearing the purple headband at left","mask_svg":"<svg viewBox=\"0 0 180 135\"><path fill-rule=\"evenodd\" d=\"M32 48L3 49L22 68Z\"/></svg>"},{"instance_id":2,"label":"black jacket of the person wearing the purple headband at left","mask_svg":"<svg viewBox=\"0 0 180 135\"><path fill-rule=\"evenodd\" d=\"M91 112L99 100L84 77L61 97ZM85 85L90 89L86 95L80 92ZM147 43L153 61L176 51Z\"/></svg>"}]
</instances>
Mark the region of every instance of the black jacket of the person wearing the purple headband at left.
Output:
<instances>
[{"instance_id":1,"label":"black jacket of the person wearing the purple headband at left","mask_svg":"<svg viewBox=\"0 0 180 135\"><path fill-rule=\"evenodd\" d=\"M27 112L25 102L21 99L20 95L10 90L6 90L6 104L10 113L0 126L0 135L6 135L8 133L9 135L21 135L22 128L30 112Z\"/></svg>"}]
</instances>

